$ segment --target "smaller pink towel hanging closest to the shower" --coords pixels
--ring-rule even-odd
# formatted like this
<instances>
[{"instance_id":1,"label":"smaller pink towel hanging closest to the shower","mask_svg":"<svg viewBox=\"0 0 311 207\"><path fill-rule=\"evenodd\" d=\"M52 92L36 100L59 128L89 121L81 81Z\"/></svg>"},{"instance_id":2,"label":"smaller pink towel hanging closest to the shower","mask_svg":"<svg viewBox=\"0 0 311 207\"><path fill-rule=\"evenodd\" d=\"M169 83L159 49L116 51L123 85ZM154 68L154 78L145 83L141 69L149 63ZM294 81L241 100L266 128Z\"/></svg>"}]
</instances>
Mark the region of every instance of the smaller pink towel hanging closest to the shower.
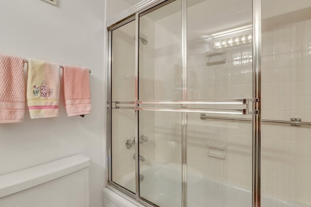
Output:
<instances>
[{"instance_id":1,"label":"smaller pink towel hanging closest to the shower","mask_svg":"<svg viewBox=\"0 0 311 207\"><path fill-rule=\"evenodd\" d=\"M64 94L68 116L91 112L91 93L87 68L64 66Z\"/></svg>"}]
</instances>

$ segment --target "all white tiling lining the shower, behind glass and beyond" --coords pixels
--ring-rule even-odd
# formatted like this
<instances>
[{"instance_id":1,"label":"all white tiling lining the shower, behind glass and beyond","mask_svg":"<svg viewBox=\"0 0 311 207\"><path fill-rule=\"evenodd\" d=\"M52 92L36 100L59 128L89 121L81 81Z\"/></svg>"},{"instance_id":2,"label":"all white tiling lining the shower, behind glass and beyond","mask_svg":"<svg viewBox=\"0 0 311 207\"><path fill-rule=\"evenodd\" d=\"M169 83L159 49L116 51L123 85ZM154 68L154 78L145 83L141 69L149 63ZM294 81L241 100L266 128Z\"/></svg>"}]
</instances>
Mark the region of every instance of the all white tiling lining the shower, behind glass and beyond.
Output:
<instances>
[{"instance_id":1,"label":"all white tiling lining the shower, behind glass and beyond","mask_svg":"<svg viewBox=\"0 0 311 207\"><path fill-rule=\"evenodd\" d=\"M263 3L267 4L267 2L263 0ZM293 2L287 1L284 6L290 7L294 4ZM271 14L267 14L269 12ZM299 12L299 9L296 12ZM305 18L287 17L288 20L282 22L276 19L276 17L282 19L282 14L273 18L273 11L267 9L263 10L263 13L261 118L284 121L301 118L302 121L311 122L310 15ZM145 22L142 22L144 29L140 32L142 37L148 40L148 44L139 46L141 53L145 55L140 56L139 84L143 86L139 92L141 100L181 99L181 48L179 45L181 36L178 16L180 16L180 11L159 19L145 18ZM170 30L168 27L170 24L174 25L175 30ZM191 27L193 28L193 23ZM244 34L247 33L251 33L251 30ZM210 45L211 43L212 41ZM122 47L125 47L124 45L126 44ZM206 65L207 55L215 52L213 49L207 51L197 43L189 43L188 47L188 99L252 97L252 62L250 60L253 54L251 45L220 50L225 52L225 64L210 66ZM132 57L133 54L129 53L132 49L134 48L120 49L120 56ZM124 51L127 52L124 53ZM123 95L133 95L134 68L130 71L128 69L130 64L126 61L123 64L120 66L123 68L120 71L124 73L120 74L120 78L126 79L127 85L113 85L113 90L114 87L115 89L119 87L122 88L123 92L120 93ZM123 95L120 95L121 99L118 100L133 101L132 97L128 99ZM118 154L115 159L116 166L113 166L113 176L116 180L121 180L131 174L130 176L134 179L133 154L135 149L127 150L125 147L126 139L133 139L135 136L134 112L119 110L115 113L118 115L113 117L113 124L119 127L113 127L112 133L115 137L119 137L119 140L118 145L113 145L112 148L113 156L116 155L114 153ZM145 162L140 162L141 166L150 166L155 162L180 165L181 113L152 111L139 113L141 119L139 130L150 138L147 143L140 146L140 154L146 158ZM250 115L227 117L251 118ZM225 159L209 156L208 150L213 147L208 146L225 147ZM216 151L217 153L219 155L221 152ZM251 190L251 122L201 120L199 113L188 113L187 156L189 174L197 174ZM262 123L262 195L311 205L310 163L310 127ZM135 190L135 186L127 188L131 191ZM188 191L187 193L191 196L196 192ZM225 196L226 192L222 193ZM143 196L148 198L148 193L143 192ZM261 206L268 207L264 203Z\"/></svg>"}]
</instances>

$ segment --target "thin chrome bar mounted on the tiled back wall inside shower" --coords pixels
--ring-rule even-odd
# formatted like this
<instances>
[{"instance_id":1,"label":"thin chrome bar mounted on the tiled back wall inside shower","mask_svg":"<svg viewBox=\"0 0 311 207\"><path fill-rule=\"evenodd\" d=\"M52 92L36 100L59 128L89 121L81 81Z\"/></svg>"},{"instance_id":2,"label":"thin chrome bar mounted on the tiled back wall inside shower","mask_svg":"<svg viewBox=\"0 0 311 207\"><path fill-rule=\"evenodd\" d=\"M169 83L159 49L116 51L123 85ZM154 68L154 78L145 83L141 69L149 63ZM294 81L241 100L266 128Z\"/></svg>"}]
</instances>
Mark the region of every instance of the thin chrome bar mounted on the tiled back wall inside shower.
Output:
<instances>
[{"instance_id":1,"label":"thin chrome bar mounted on the tiled back wall inside shower","mask_svg":"<svg viewBox=\"0 0 311 207\"><path fill-rule=\"evenodd\" d=\"M233 117L220 117L220 116L206 116L205 113L200 114L201 120L206 119L218 119L218 120L230 120L230 121L247 121L252 122L252 119L247 118L233 118ZM277 123L277 124L290 124L292 126L299 127L300 125L311 125L311 122L302 122L300 118L291 118L291 121L282 121L282 120L269 120L269 119L261 119L261 122L265 123Z\"/></svg>"}]
</instances>

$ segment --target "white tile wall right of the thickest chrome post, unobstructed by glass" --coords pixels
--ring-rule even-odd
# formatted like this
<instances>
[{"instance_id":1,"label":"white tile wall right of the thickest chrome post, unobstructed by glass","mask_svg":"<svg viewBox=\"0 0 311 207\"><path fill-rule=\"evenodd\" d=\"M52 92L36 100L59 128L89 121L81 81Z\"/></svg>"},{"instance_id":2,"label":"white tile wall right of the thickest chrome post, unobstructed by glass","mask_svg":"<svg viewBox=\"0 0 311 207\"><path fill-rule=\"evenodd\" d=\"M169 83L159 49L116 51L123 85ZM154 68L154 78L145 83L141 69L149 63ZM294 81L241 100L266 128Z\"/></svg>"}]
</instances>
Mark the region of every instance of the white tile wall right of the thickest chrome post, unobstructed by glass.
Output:
<instances>
[{"instance_id":1,"label":"white tile wall right of the thickest chrome post, unobstructed by glass","mask_svg":"<svg viewBox=\"0 0 311 207\"><path fill-rule=\"evenodd\" d=\"M311 16L292 18L263 25L262 118L310 122ZM310 149L310 127L263 125L262 194L311 205Z\"/></svg>"}]
</instances>

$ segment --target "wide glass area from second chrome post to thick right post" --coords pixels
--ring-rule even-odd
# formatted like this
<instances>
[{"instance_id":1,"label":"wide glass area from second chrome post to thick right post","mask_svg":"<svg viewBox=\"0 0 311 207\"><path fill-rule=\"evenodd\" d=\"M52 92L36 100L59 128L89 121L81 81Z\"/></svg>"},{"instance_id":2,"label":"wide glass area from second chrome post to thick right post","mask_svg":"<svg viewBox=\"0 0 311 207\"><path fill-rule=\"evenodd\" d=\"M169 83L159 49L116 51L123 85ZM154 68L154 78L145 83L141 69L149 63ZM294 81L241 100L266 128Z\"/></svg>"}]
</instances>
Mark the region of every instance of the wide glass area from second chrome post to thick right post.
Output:
<instances>
[{"instance_id":1,"label":"wide glass area from second chrome post to thick right post","mask_svg":"<svg viewBox=\"0 0 311 207\"><path fill-rule=\"evenodd\" d=\"M251 207L252 2L187 4L139 15L139 198Z\"/></svg>"}]
</instances>

